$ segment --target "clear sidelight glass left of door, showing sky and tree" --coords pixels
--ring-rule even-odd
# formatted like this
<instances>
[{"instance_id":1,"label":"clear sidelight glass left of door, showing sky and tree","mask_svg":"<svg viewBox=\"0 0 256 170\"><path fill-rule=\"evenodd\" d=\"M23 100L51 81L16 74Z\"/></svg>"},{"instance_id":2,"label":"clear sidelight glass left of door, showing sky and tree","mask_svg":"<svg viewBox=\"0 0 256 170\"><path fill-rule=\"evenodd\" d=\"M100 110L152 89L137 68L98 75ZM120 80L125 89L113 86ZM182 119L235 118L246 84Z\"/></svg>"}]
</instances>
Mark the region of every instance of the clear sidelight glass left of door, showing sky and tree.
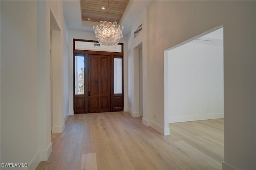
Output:
<instances>
[{"instance_id":1,"label":"clear sidelight glass left of door, showing sky and tree","mask_svg":"<svg viewBox=\"0 0 256 170\"><path fill-rule=\"evenodd\" d=\"M75 95L84 94L84 56L75 56Z\"/></svg>"}]
</instances>

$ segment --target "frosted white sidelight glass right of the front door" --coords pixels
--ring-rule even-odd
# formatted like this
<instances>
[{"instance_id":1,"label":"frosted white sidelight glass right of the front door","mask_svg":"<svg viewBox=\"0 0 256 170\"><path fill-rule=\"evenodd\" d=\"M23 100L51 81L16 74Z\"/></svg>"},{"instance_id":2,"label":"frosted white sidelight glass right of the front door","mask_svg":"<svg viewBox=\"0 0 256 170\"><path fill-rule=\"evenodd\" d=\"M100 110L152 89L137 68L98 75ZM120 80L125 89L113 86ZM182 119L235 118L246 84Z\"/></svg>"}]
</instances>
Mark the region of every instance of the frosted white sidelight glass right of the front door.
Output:
<instances>
[{"instance_id":1,"label":"frosted white sidelight glass right of the front door","mask_svg":"<svg viewBox=\"0 0 256 170\"><path fill-rule=\"evenodd\" d=\"M114 58L114 94L122 94L122 59Z\"/></svg>"}]
</instances>

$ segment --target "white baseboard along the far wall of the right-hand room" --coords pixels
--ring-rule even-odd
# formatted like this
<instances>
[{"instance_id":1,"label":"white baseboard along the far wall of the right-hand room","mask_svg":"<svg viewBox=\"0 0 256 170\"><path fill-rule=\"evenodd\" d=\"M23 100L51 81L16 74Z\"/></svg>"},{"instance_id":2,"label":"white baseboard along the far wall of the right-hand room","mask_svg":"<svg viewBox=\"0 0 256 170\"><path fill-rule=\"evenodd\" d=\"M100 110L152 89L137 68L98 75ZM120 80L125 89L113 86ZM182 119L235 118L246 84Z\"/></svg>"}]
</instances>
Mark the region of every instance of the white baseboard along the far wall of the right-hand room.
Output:
<instances>
[{"instance_id":1,"label":"white baseboard along the far wall of the right-hand room","mask_svg":"<svg viewBox=\"0 0 256 170\"><path fill-rule=\"evenodd\" d=\"M212 115L196 115L196 116L184 116L184 117L169 117L169 123L189 122L189 121L201 121L209 119L221 119L224 117L223 113Z\"/></svg>"}]
</instances>

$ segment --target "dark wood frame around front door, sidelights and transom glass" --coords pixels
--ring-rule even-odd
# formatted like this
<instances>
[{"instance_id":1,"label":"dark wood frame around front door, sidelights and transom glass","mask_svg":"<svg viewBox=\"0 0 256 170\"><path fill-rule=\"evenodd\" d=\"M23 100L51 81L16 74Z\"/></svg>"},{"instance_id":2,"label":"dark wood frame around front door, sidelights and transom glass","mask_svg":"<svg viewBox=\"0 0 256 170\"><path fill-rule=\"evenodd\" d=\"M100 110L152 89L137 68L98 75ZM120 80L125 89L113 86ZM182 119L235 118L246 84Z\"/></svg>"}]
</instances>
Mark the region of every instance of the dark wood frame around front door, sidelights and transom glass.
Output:
<instances>
[{"instance_id":1,"label":"dark wood frame around front door, sidelights and transom glass","mask_svg":"<svg viewBox=\"0 0 256 170\"><path fill-rule=\"evenodd\" d=\"M73 39L73 110L74 114L79 114L75 111L75 56L84 56L84 113L89 113L88 111L88 56L89 54L96 54L96 55L110 55L110 110L113 111L123 111L124 109L124 43L118 43L122 45L122 52L109 52L109 51L89 51L89 50L80 50L75 49L75 41L83 41L83 42L95 42L98 41L94 40L80 40L80 39ZM122 94L114 94L114 58L121 58L122 59ZM114 97L115 96L122 96L122 108L119 109L114 108ZM76 113L75 113L76 112Z\"/></svg>"}]
</instances>

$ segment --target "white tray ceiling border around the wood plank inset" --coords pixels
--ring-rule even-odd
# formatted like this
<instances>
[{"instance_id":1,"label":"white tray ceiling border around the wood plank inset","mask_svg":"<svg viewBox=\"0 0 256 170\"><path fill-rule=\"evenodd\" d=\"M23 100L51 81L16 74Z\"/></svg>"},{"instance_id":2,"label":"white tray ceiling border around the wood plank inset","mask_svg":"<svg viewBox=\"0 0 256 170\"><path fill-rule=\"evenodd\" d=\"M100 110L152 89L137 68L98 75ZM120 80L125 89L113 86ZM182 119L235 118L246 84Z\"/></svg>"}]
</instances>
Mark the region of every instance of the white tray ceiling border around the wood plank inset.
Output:
<instances>
[{"instance_id":1,"label":"white tray ceiling border around the wood plank inset","mask_svg":"<svg viewBox=\"0 0 256 170\"><path fill-rule=\"evenodd\" d=\"M124 26L124 35L129 34L134 21L151 3L151 0L130 0L119 23ZM64 0L63 12L69 30L94 32L92 26L98 24L97 22L82 21L79 0Z\"/></svg>"}]
</instances>

